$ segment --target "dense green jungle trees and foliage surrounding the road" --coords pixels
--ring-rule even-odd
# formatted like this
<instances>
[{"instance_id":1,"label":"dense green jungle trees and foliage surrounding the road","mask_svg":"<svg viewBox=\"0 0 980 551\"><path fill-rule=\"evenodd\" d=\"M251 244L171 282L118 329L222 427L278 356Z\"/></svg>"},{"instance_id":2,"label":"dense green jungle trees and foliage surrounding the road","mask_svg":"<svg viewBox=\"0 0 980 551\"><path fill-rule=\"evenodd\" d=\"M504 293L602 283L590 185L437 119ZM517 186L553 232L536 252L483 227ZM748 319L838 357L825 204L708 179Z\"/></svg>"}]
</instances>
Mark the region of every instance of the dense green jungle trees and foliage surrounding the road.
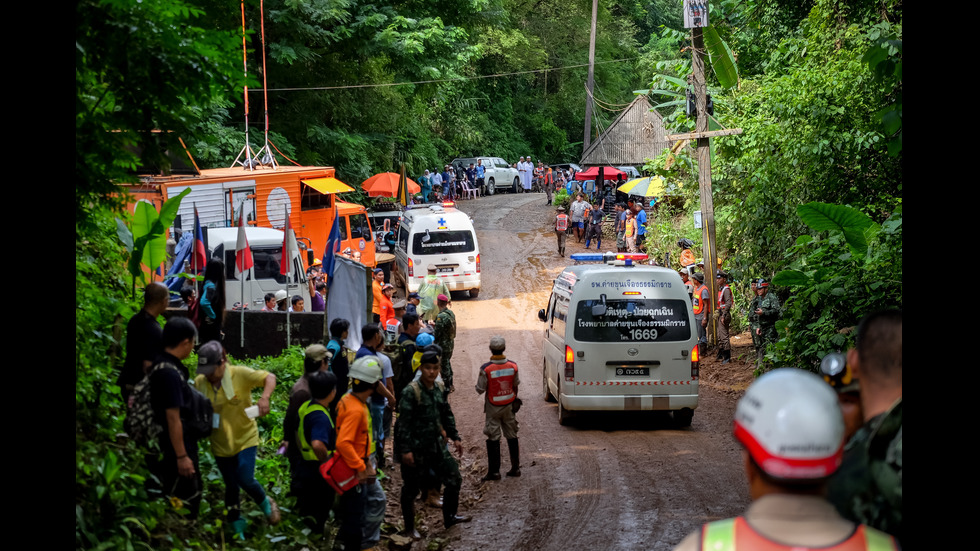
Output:
<instances>
[{"instance_id":1,"label":"dense green jungle trees and foliage surrounding the road","mask_svg":"<svg viewBox=\"0 0 980 551\"><path fill-rule=\"evenodd\" d=\"M599 3L594 131L637 89L653 90L669 128L693 128L682 101L691 57L680 5ZM140 306L126 271L135 240L120 239L115 184L137 168L166 172L178 136L202 168L227 166L241 150L240 10L231 0L76 4L76 548L228 543L206 449L205 506L187 523L179 508L147 499L143 452L117 436L124 327ZM275 150L334 166L355 186L400 163L417 176L456 156L578 160L591 2L268 0L265 75L258 2L245 10L253 147L264 143L256 91L264 79ZM708 73L710 127L744 131L712 140L716 245L733 274L736 327L749 278L777 276L785 312L770 360L810 367L849 346L864 313L902 304L902 3L722 0L711 19L711 62L730 52L737 65ZM498 76L476 78L485 75ZM427 82L399 84L412 81ZM351 87L365 84L382 86ZM648 239L656 257L675 259L678 238L702 243L690 217L700 208L698 166L690 149L670 168L666 159L646 168L678 187L649 220ZM159 233L152 226L146 235ZM286 514L270 528L246 503L250 548L310 541L288 514L286 467L274 449L299 357L289 350L251 363L279 379L273 411L260 420L257 477Z\"/></svg>"}]
</instances>

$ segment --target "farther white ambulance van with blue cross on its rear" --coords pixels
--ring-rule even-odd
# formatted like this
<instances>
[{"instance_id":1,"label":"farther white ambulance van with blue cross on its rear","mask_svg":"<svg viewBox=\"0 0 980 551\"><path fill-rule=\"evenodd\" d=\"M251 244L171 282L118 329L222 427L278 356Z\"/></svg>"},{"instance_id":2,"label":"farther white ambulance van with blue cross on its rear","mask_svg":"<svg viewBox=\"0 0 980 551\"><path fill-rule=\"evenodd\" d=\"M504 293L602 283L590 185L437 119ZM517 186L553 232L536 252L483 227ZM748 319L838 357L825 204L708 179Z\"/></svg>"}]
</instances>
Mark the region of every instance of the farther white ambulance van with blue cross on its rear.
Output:
<instances>
[{"instance_id":1,"label":"farther white ambulance van with blue cross on its rear","mask_svg":"<svg viewBox=\"0 0 980 551\"><path fill-rule=\"evenodd\" d=\"M412 205L402 215L395 262L407 281L406 293L419 290L428 266L450 291L480 294L480 245L473 221L454 203Z\"/></svg>"}]
</instances>

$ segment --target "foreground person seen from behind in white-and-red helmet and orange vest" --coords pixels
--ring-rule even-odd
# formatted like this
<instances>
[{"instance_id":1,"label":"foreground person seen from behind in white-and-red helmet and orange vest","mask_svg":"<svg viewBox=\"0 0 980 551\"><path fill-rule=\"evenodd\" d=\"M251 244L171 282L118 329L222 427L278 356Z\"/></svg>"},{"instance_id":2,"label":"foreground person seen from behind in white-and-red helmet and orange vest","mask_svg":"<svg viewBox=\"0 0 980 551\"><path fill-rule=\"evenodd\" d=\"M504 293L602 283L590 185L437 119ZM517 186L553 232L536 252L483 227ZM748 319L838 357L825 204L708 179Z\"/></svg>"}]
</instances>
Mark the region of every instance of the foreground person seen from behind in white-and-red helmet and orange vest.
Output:
<instances>
[{"instance_id":1,"label":"foreground person seen from behind in white-and-red helmet and orange vest","mask_svg":"<svg viewBox=\"0 0 980 551\"><path fill-rule=\"evenodd\" d=\"M842 518L822 496L840 464L844 422L834 392L802 369L759 377L735 409L752 504L705 524L675 549L886 550L894 539Z\"/></svg>"}]
</instances>

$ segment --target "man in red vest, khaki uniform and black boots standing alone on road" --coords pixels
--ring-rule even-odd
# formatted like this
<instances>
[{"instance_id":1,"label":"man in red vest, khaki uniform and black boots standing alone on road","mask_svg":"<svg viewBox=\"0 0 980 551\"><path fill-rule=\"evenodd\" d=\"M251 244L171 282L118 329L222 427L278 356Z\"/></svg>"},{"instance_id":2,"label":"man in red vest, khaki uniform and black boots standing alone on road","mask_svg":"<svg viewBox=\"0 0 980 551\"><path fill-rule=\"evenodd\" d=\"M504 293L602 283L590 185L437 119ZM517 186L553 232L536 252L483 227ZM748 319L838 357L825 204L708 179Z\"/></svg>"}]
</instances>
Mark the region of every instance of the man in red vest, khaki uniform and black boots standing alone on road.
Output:
<instances>
[{"instance_id":1,"label":"man in red vest, khaki uniform and black boots standing alone on road","mask_svg":"<svg viewBox=\"0 0 980 551\"><path fill-rule=\"evenodd\" d=\"M483 434L487 435L487 474L483 480L500 480L500 433L503 429L510 450L510 470L507 476L521 476L521 453L517 443L517 364L504 356L507 342L501 336L490 339L490 361L480 367L476 393L487 393L483 412L487 416Z\"/></svg>"}]
</instances>

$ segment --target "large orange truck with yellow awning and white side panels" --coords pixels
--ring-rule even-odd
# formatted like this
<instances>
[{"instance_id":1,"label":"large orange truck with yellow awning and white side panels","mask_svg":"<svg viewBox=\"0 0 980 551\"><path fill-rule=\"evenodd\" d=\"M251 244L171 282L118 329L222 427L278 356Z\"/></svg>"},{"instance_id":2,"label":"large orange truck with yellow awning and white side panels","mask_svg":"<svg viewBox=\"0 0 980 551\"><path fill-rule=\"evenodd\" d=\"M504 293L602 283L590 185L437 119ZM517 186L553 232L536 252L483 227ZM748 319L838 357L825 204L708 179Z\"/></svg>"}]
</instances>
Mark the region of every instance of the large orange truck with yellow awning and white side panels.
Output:
<instances>
[{"instance_id":1,"label":"large orange truck with yellow awning and white side panels","mask_svg":"<svg viewBox=\"0 0 980 551\"><path fill-rule=\"evenodd\" d=\"M333 167L216 168L193 175L144 177L141 183L125 187L135 201L149 201L157 210L163 201L191 188L174 224L184 231L193 231L195 206L201 225L207 228L234 226L244 211L249 225L282 230L288 216L300 246L305 244L318 259L326 248L336 206L341 251L350 249L351 256L367 266L377 264L367 210L337 198L353 189L334 177Z\"/></svg>"}]
</instances>

